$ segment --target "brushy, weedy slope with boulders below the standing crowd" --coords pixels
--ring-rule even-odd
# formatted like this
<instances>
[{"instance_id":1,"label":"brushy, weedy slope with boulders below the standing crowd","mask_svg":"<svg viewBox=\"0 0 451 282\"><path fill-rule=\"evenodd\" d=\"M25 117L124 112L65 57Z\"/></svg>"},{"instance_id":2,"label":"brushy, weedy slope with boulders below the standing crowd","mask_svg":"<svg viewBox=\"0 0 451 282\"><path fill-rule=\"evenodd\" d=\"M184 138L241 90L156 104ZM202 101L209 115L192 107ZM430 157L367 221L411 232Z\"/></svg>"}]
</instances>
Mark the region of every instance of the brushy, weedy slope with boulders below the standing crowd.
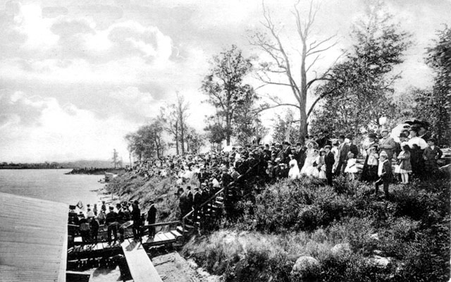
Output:
<instances>
[{"instance_id":1,"label":"brushy, weedy slope with boulders below the standing crowd","mask_svg":"<svg viewBox=\"0 0 451 282\"><path fill-rule=\"evenodd\" d=\"M385 201L359 182L284 180L183 255L226 281L448 281L449 187L447 178L391 185ZM300 256L319 264L292 274Z\"/></svg>"}]
</instances>

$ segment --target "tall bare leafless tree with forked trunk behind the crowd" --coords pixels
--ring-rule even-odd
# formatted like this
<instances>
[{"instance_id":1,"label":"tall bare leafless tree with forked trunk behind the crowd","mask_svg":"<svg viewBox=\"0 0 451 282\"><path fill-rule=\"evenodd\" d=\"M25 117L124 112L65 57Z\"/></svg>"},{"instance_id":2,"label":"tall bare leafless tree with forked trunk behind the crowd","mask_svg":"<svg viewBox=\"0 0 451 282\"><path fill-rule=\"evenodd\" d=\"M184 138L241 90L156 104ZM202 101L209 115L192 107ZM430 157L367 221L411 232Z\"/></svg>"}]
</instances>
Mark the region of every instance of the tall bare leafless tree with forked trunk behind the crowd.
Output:
<instances>
[{"instance_id":1,"label":"tall bare leafless tree with forked trunk behind the crowd","mask_svg":"<svg viewBox=\"0 0 451 282\"><path fill-rule=\"evenodd\" d=\"M261 63L261 69L257 73L259 80L264 82L264 85L278 85L290 87L292 94L296 99L296 104L281 102L278 97L270 97L272 105L268 104L261 108L261 110L272 109L277 106L294 106L299 110L299 133L301 137L307 135L307 92L320 80L333 80L330 74L330 68L322 75L316 75L313 71L315 63L321 59L321 53L334 47L338 42L335 41L336 35L332 35L325 39L311 39L312 27L315 22L316 14L319 11L319 5L315 5L313 0L310 2L309 12L306 17L303 17L300 12L300 0L293 6L292 14L295 18L297 27L297 37L300 40L300 47L297 49L299 53L299 61L295 64L299 65L299 77L295 75L296 70L293 68L293 61L288 54L287 47L282 42L280 35L281 28L277 27L271 18L271 13L263 4L264 21L261 24L265 27L267 33L255 32L250 38L250 44L257 47L268 54L271 61L268 63ZM340 56L338 57L338 59ZM335 60L336 61L338 61ZM335 63L333 63L335 64ZM332 66L333 66L332 64ZM307 73L315 73L315 77L307 80ZM273 80L275 75L285 76L284 81ZM318 100L321 97L317 98ZM314 105L316 102L314 103ZM313 106L314 106L313 105ZM311 109L309 110L309 113Z\"/></svg>"}]
</instances>

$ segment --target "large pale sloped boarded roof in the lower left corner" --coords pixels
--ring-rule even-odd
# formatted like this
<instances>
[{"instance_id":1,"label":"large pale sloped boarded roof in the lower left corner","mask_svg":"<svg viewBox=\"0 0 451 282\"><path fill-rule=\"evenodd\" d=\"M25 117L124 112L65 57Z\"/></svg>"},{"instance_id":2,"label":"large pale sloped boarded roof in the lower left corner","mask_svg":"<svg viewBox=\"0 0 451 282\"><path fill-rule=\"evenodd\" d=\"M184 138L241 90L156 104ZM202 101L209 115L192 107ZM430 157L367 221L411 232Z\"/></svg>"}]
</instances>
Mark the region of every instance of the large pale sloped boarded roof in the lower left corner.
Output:
<instances>
[{"instance_id":1,"label":"large pale sloped boarded roof in the lower left corner","mask_svg":"<svg viewBox=\"0 0 451 282\"><path fill-rule=\"evenodd\" d=\"M67 204L0 193L0 281L66 281L67 222Z\"/></svg>"}]
</instances>

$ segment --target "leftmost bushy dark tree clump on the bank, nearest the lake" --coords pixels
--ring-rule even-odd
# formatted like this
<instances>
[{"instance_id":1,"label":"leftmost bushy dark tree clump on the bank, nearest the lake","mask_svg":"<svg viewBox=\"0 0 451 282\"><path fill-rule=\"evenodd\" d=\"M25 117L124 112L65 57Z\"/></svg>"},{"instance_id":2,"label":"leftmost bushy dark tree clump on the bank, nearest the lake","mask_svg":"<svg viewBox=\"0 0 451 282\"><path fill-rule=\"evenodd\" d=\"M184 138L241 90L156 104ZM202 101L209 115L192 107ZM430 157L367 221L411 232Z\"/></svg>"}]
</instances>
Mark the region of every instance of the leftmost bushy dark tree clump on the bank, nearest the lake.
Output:
<instances>
[{"instance_id":1,"label":"leftmost bushy dark tree clump on the bank, nearest the lake","mask_svg":"<svg viewBox=\"0 0 451 282\"><path fill-rule=\"evenodd\" d=\"M134 133L125 135L129 152L135 154L138 159L161 157L166 142L163 140L163 122L154 119L147 125L142 125Z\"/></svg>"}]
</instances>

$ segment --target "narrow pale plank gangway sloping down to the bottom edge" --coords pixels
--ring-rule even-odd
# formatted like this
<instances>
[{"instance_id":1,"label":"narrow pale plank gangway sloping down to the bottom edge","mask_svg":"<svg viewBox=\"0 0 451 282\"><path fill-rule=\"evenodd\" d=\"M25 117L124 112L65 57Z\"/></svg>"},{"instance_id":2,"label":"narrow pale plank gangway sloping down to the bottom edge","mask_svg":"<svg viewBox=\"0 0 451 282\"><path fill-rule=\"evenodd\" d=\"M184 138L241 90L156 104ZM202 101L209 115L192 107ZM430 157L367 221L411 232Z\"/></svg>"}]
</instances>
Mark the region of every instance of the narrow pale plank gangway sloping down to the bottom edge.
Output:
<instances>
[{"instance_id":1,"label":"narrow pale plank gangway sloping down to the bottom edge","mask_svg":"<svg viewBox=\"0 0 451 282\"><path fill-rule=\"evenodd\" d=\"M135 282L162 282L141 243L127 240L121 244L128 269Z\"/></svg>"}]
</instances>

